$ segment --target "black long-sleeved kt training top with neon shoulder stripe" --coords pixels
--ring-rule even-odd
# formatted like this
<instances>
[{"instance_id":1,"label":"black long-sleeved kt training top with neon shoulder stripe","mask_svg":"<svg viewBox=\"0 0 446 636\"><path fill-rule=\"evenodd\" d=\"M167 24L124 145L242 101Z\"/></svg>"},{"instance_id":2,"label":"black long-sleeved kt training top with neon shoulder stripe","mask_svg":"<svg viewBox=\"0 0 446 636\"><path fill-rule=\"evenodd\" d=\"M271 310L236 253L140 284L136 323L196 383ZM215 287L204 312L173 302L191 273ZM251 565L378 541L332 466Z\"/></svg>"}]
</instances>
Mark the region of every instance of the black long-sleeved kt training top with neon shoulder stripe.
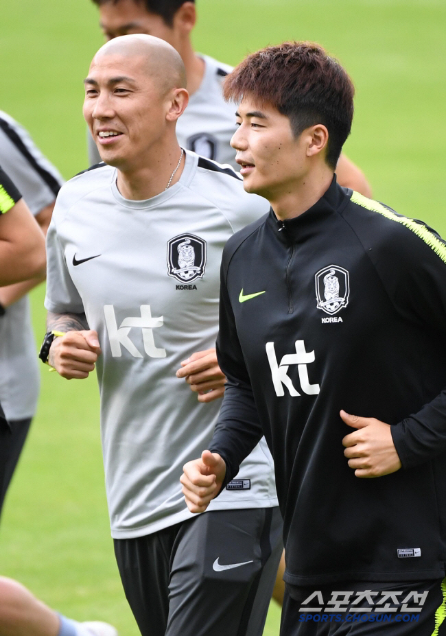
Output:
<instances>
[{"instance_id":1,"label":"black long-sleeved kt training top with neon shoulder stripe","mask_svg":"<svg viewBox=\"0 0 446 636\"><path fill-rule=\"evenodd\" d=\"M226 481L265 434L284 521L285 581L445 575L446 246L419 221L341 188L229 239L211 450ZM360 479L348 413L392 425L403 469ZM243 478L243 475L240 475Z\"/></svg>"}]
</instances>

